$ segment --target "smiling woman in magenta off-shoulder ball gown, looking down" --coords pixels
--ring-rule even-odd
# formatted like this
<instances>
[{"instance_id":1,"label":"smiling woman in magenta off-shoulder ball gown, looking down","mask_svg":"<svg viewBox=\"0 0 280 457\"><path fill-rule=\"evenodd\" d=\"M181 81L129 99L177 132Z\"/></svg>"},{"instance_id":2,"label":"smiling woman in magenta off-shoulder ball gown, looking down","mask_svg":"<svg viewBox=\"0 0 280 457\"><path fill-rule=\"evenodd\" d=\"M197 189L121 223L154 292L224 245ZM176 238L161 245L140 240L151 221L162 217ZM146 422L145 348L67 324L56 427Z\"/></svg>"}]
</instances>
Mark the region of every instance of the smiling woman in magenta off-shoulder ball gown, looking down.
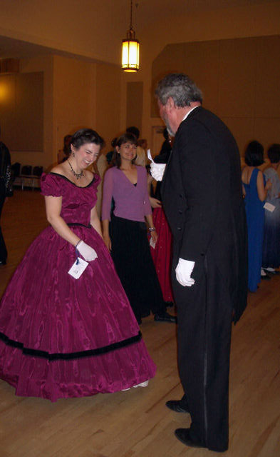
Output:
<instances>
[{"instance_id":1,"label":"smiling woman in magenta off-shoulder ball gown, looking down","mask_svg":"<svg viewBox=\"0 0 280 457\"><path fill-rule=\"evenodd\" d=\"M68 160L41 177L50 226L0 304L0 378L16 395L56 401L145 387L155 376L95 209L100 178L88 166L102 145L97 132L76 131Z\"/></svg>"}]
</instances>

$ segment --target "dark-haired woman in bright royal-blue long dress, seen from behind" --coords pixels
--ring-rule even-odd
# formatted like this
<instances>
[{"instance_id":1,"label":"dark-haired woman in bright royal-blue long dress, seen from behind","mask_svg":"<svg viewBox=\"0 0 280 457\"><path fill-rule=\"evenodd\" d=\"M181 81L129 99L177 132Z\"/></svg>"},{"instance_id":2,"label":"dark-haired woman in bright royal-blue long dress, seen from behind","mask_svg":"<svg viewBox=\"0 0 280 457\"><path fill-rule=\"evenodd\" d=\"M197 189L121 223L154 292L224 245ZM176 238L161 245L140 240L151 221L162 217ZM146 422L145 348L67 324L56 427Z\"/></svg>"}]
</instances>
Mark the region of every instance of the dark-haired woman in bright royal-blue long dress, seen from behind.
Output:
<instances>
[{"instance_id":1,"label":"dark-haired woman in bright royal-blue long dress, seen from behind","mask_svg":"<svg viewBox=\"0 0 280 457\"><path fill-rule=\"evenodd\" d=\"M264 243L264 200L271 182L265 184L264 174L257 167L264 164L264 147L251 141L245 151L242 170L248 230L248 288L255 292L261 282L262 248ZM269 276L262 276L262 278Z\"/></svg>"}]
</instances>

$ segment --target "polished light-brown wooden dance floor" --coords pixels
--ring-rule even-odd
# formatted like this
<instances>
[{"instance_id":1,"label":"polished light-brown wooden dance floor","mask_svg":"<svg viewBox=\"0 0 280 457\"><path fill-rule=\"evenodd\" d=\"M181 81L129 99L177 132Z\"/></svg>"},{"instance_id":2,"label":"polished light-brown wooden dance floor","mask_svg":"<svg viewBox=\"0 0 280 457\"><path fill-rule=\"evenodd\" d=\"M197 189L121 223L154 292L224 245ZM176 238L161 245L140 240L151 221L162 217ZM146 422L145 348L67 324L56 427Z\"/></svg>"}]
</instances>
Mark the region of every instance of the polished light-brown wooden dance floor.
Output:
<instances>
[{"instance_id":1,"label":"polished light-brown wooden dance floor","mask_svg":"<svg viewBox=\"0 0 280 457\"><path fill-rule=\"evenodd\" d=\"M1 221L9 263L0 267L4 291L29 243L47 225L43 197L16 191ZM157 375L147 388L73 398L56 403L20 398L0 381L0 457L206 457L187 448L173 431L190 416L172 413L165 401L180 398L175 326L144 319L147 348ZM280 456L280 276L262 281L233 328L230 441L227 457Z\"/></svg>"}]
</instances>

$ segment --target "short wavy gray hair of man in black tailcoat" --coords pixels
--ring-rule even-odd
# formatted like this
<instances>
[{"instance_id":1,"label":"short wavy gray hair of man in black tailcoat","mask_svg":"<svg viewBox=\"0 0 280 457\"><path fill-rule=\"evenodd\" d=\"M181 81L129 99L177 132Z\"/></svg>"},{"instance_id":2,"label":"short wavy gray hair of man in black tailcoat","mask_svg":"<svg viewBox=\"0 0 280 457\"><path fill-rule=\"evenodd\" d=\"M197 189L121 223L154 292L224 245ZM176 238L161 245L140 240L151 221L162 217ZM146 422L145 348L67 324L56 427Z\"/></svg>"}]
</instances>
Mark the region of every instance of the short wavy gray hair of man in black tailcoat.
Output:
<instances>
[{"instance_id":1,"label":"short wavy gray hair of man in black tailcoat","mask_svg":"<svg viewBox=\"0 0 280 457\"><path fill-rule=\"evenodd\" d=\"M162 105L166 105L170 97L180 108L190 106L192 101L202 103L202 91L189 76L183 73L167 74L157 84L155 95Z\"/></svg>"}]
</instances>

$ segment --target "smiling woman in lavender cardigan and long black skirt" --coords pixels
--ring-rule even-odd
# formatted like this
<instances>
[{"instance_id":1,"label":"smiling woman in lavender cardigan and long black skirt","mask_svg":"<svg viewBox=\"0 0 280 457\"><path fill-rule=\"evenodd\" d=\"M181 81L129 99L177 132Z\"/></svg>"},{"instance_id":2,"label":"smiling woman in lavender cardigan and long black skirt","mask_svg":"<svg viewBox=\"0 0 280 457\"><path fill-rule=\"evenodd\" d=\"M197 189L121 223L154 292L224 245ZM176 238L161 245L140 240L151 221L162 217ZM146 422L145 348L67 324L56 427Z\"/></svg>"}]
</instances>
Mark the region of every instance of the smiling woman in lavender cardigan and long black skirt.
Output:
<instances>
[{"instance_id":1,"label":"smiling woman in lavender cardigan and long black skirt","mask_svg":"<svg viewBox=\"0 0 280 457\"><path fill-rule=\"evenodd\" d=\"M138 323L150 311L155 321L175 322L175 317L166 312L150 255L145 219L154 242L157 233L147 193L147 173L134 163L136 148L135 136L129 133L120 136L115 146L115 166L106 171L103 182L103 238ZM111 215L112 199L115 209Z\"/></svg>"}]
</instances>

